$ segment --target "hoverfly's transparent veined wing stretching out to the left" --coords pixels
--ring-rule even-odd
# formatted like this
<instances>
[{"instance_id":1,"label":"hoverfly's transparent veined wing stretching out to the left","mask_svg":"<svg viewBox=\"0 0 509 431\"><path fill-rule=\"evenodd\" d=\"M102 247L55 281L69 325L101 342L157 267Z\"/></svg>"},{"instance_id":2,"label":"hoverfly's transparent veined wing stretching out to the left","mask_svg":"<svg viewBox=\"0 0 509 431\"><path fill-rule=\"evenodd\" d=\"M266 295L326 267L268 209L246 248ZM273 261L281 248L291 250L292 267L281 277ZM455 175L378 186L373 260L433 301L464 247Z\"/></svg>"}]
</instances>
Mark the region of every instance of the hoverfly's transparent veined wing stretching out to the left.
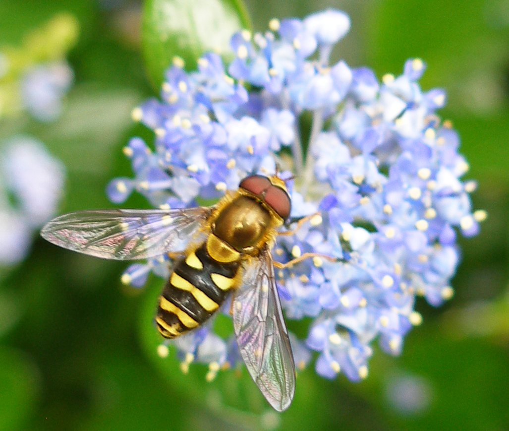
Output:
<instances>
[{"instance_id":1,"label":"hoverfly's transparent veined wing stretching out to the left","mask_svg":"<svg viewBox=\"0 0 509 431\"><path fill-rule=\"evenodd\" d=\"M181 252L205 238L204 222L213 207L113 209L60 215L41 231L57 246L105 259L144 259Z\"/></svg>"}]
</instances>

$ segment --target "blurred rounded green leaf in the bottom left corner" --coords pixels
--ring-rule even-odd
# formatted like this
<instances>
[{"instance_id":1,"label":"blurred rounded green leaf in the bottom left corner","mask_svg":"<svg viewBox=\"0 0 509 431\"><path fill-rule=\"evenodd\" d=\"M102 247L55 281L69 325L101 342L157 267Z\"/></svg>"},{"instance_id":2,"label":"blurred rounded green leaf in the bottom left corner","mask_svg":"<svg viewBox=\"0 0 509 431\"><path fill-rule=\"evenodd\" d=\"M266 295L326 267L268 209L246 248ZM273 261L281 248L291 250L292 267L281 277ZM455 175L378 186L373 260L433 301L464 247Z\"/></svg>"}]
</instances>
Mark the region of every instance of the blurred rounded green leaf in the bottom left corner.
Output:
<instances>
[{"instance_id":1,"label":"blurred rounded green leaf in the bottom left corner","mask_svg":"<svg viewBox=\"0 0 509 431\"><path fill-rule=\"evenodd\" d=\"M23 353L0 346L0 431L21 429L35 408L39 373Z\"/></svg>"}]
</instances>

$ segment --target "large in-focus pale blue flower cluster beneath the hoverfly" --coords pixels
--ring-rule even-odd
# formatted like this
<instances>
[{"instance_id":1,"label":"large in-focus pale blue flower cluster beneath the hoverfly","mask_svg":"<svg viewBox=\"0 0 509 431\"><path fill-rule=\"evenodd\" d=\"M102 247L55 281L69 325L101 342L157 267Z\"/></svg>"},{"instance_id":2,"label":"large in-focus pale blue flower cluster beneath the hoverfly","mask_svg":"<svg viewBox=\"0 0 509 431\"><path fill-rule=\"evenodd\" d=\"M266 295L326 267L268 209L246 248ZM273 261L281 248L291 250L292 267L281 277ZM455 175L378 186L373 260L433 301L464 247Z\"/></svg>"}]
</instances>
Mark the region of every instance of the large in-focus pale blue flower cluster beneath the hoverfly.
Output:
<instances>
[{"instance_id":1,"label":"large in-focus pale blue flower cluster beneath the hoverfly","mask_svg":"<svg viewBox=\"0 0 509 431\"><path fill-rule=\"evenodd\" d=\"M120 203L136 190L159 207L195 206L236 189L247 174L273 173L276 163L291 171L291 216L320 214L280 236L273 250L280 262L314 253L277 274L287 318L314 318L305 340L291 336L295 362L304 367L317 351L319 374L343 370L360 380L375 339L399 354L420 324L416 295L434 306L453 295L457 232L475 235L486 213L472 211L476 183L460 179L468 164L458 134L435 113L444 91L418 85L421 60L408 60L401 76L381 83L370 69L329 64L350 28L337 10L274 19L269 28L235 34L227 68L214 53L191 73L174 61L161 100L133 111L154 130L155 148L133 138L124 152L135 177L113 180L108 194ZM313 122L303 154L306 111ZM124 281L141 286L150 271L164 276L167 266L162 259L136 263ZM239 360L235 340L223 340L212 325L175 343L182 369L208 363L210 379Z\"/></svg>"}]
</instances>

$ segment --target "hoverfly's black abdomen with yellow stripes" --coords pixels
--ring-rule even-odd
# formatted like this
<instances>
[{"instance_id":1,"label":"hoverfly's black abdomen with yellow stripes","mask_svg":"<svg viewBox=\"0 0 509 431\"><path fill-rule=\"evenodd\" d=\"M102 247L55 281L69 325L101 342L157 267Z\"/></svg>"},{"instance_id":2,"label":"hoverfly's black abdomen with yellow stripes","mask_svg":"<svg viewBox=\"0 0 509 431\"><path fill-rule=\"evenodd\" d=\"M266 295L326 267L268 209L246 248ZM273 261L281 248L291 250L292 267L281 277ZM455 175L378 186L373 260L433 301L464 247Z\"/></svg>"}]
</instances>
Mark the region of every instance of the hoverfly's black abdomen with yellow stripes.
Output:
<instances>
[{"instance_id":1,"label":"hoverfly's black abdomen with yellow stripes","mask_svg":"<svg viewBox=\"0 0 509 431\"><path fill-rule=\"evenodd\" d=\"M221 263L206 243L177 262L159 298L156 324L165 338L175 338L207 320L236 286L240 259Z\"/></svg>"}]
</instances>

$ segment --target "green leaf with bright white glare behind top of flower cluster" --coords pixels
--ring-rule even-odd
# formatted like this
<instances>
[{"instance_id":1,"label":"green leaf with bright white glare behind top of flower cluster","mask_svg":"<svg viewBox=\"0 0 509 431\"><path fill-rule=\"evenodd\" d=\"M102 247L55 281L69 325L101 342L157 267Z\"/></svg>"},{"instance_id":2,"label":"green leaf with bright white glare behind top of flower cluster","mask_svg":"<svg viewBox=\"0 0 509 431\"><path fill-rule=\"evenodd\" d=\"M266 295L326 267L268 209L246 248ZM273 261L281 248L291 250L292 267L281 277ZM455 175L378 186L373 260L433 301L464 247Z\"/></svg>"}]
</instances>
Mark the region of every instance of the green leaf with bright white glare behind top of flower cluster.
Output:
<instances>
[{"instance_id":1,"label":"green leaf with bright white glare behind top of flower cluster","mask_svg":"<svg viewBox=\"0 0 509 431\"><path fill-rule=\"evenodd\" d=\"M206 51L228 55L233 33L251 28L241 0L147 0L143 15L145 61L157 90L175 56L192 70Z\"/></svg>"}]
</instances>

